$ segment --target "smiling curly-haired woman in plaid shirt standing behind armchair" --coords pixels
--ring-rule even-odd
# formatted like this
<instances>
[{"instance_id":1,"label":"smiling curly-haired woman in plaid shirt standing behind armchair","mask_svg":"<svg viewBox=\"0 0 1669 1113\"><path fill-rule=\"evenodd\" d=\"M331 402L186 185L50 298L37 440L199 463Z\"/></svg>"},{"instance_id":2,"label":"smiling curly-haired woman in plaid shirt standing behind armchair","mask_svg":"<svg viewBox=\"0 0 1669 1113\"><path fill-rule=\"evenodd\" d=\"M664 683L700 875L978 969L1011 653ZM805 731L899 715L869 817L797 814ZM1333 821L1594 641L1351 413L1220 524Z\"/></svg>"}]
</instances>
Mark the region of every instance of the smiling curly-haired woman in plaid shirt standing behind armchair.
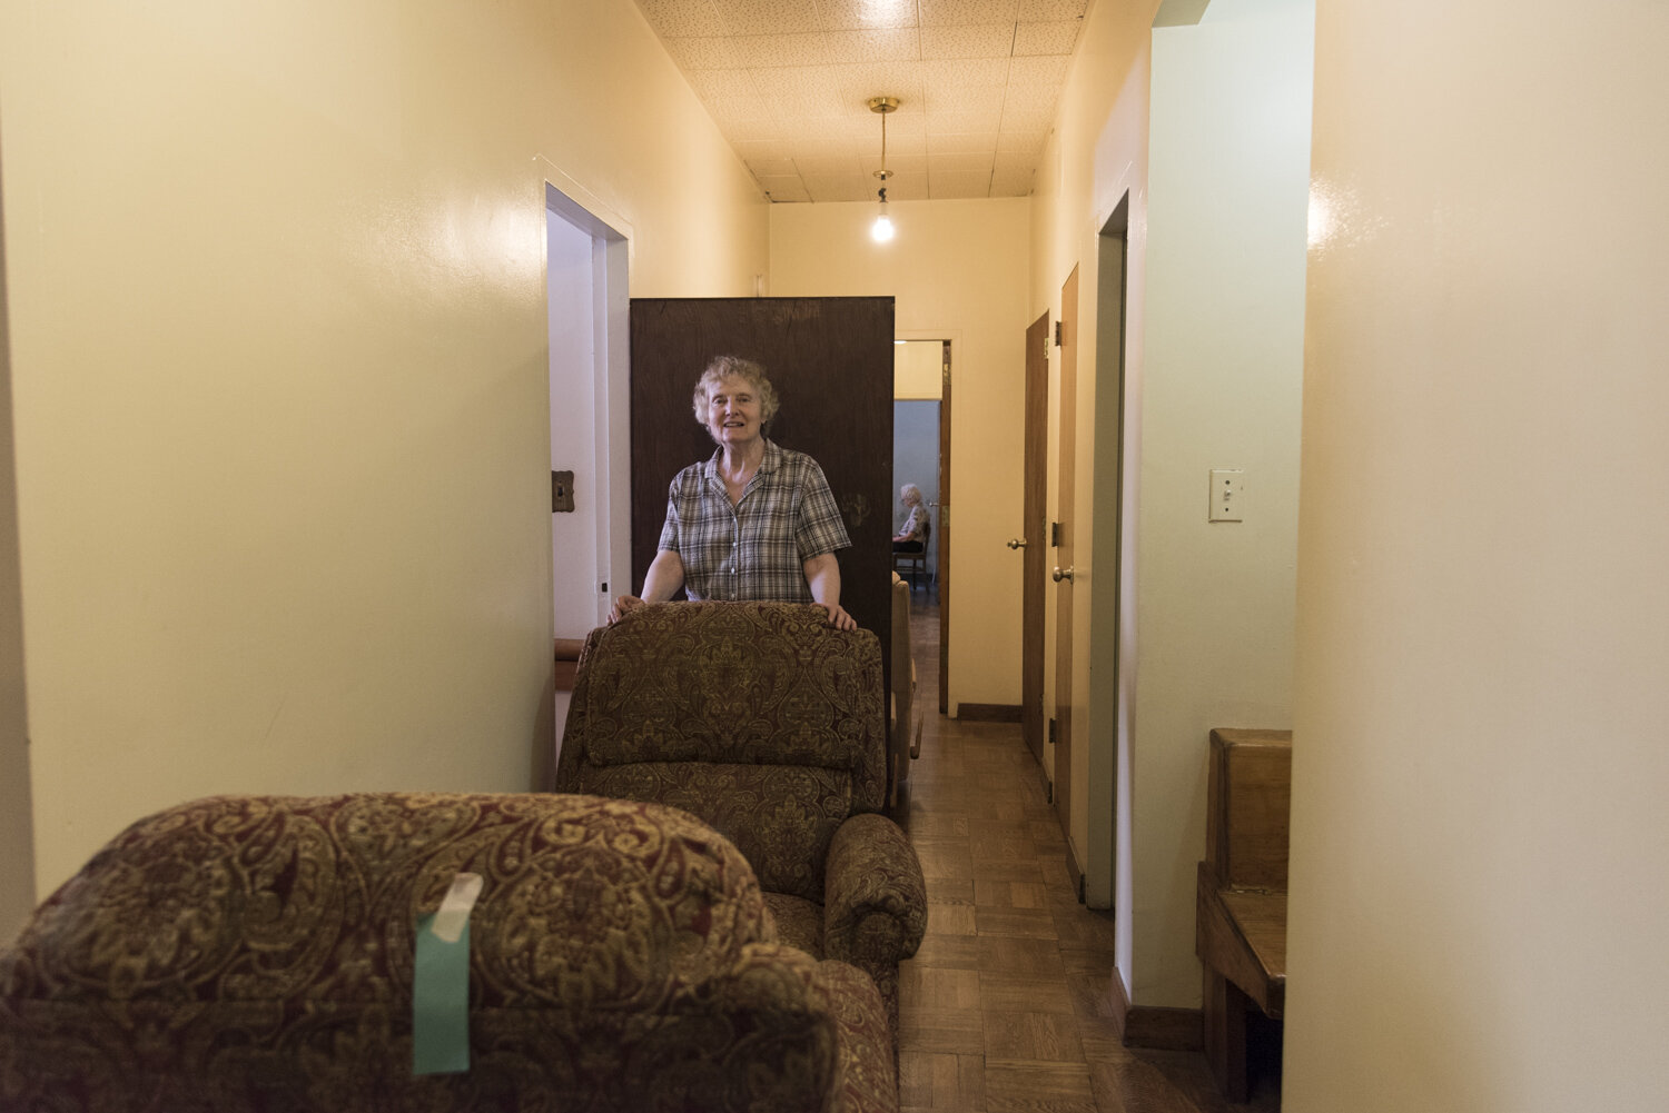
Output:
<instances>
[{"instance_id":1,"label":"smiling curly-haired woman in plaid shirt standing behind armchair","mask_svg":"<svg viewBox=\"0 0 1669 1113\"><path fill-rule=\"evenodd\" d=\"M719 355L696 382L694 409L718 451L673 479L643 596L616 599L609 621L683 587L691 599L816 602L829 626L858 629L840 606L834 557L851 539L818 462L766 439L776 390L764 369Z\"/></svg>"}]
</instances>

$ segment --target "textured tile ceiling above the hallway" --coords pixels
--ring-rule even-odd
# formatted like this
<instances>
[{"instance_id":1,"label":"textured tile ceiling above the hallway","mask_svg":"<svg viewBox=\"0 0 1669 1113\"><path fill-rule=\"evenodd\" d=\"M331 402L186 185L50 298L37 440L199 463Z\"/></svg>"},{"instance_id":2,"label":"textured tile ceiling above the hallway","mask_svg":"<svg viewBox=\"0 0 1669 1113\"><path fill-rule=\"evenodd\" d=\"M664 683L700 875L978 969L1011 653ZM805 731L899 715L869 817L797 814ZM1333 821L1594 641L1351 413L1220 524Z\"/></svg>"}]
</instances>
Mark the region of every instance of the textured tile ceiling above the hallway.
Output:
<instances>
[{"instance_id":1,"label":"textured tile ceiling above the hallway","mask_svg":"<svg viewBox=\"0 0 1669 1113\"><path fill-rule=\"evenodd\" d=\"M1090 0L638 0L773 202L1023 197Z\"/></svg>"}]
</instances>

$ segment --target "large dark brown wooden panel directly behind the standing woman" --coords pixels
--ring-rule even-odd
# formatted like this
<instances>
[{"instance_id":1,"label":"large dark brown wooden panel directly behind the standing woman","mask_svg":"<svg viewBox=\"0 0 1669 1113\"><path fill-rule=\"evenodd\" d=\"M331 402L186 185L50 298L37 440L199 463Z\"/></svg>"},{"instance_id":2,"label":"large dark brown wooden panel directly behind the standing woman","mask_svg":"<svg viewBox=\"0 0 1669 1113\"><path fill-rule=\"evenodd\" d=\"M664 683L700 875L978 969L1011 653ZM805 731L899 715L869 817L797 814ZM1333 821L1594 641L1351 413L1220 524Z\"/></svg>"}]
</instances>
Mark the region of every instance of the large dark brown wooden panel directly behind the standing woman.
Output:
<instances>
[{"instance_id":1,"label":"large dark brown wooden panel directly behind the standing woman","mask_svg":"<svg viewBox=\"0 0 1669 1113\"><path fill-rule=\"evenodd\" d=\"M643 587L679 469L713 456L691 409L714 355L764 367L781 409L766 436L823 466L846 519L841 604L891 646L893 299L716 297L631 302L631 569Z\"/></svg>"}]
</instances>

